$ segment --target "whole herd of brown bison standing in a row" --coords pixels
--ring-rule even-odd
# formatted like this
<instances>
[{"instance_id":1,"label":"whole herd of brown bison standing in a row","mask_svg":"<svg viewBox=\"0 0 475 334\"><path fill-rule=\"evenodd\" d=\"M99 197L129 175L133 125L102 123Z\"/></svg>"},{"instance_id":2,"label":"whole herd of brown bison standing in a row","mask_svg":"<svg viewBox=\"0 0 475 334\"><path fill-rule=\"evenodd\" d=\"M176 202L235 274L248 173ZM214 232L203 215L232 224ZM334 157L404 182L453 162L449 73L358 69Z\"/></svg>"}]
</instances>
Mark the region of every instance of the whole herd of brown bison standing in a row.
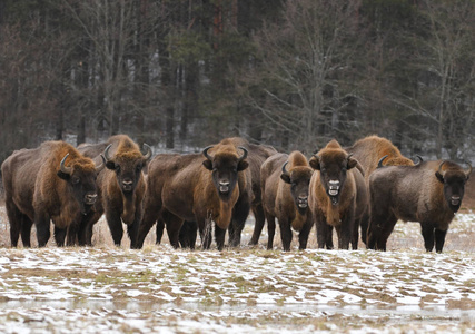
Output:
<instances>
[{"instance_id":1,"label":"whole herd of brown bison standing in a row","mask_svg":"<svg viewBox=\"0 0 475 334\"><path fill-rule=\"evenodd\" d=\"M307 159L300 151L278 153L243 138L226 138L201 154L159 154L126 135L75 148L47 141L14 151L1 165L11 245L30 247L31 227L39 247L53 224L58 246L92 245L92 227L105 215L120 245L123 228L131 248L141 248L156 225L170 244L194 248L214 238L218 249L240 244L250 212L256 245L268 224L267 248L274 247L276 218L284 250L293 230L307 247L316 226L319 248L386 250L396 222L418 222L427 252L442 252L449 223L459 209L472 166L449 160L416 164L389 140L369 136L350 147L337 140Z\"/></svg>"}]
</instances>

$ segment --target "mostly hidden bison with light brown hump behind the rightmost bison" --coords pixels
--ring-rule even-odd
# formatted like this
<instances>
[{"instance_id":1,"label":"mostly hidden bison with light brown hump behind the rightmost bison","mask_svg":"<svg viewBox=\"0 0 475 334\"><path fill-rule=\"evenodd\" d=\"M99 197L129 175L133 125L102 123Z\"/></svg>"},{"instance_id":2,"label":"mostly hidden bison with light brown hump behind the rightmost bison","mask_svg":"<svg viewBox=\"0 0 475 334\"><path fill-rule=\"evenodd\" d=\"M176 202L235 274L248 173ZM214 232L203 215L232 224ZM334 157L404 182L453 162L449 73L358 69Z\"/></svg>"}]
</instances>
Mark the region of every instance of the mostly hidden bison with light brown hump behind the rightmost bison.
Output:
<instances>
[{"instance_id":1,"label":"mostly hidden bison with light brown hump behind the rightmost bison","mask_svg":"<svg viewBox=\"0 0 475 334\"><path fill-rule=\"evenodd\" d=\"M384 156L387 156L387 159L384 161L385 166L414 166L414 163L403 156L399 149L390 143L390 140L378 136L368 136L359 139L353 146L345 148L345 150L353 154L353 157L362 165L365 171L367 189L369 187L369 176L376 169L379 159ZM369 209L367 213L369 213ZM367 214L360 219L362 240L365 244L369 216Z\"/></svg>"}]
</instances>

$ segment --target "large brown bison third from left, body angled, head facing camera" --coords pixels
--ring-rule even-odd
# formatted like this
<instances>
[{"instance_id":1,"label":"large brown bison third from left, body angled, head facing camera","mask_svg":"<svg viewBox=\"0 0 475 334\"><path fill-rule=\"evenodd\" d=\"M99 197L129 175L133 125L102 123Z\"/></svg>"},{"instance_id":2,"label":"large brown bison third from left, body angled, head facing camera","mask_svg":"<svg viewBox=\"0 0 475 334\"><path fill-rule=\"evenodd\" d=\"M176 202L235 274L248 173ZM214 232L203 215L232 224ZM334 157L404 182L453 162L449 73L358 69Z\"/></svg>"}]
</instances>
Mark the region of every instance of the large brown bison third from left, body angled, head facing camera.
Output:
<instances>
[{"instance_id":1,"label":"large brown bison third from left, body angled, head facing camera","mask_svg":"<svg viewBox=\"0 0 475 334\"><path fill-rule=\"evenodd\" d=\"M222 249L240 189L250 187L243 173L248 167L246 157L246 148L229 144L207 147L202 155L156 156L149 165L138 246L160 219L166 223L171 245L178 247L180 228L188 220L197 223L202 248L208 249L214 220L216 243Z\"/></svg>"}]
</instances>

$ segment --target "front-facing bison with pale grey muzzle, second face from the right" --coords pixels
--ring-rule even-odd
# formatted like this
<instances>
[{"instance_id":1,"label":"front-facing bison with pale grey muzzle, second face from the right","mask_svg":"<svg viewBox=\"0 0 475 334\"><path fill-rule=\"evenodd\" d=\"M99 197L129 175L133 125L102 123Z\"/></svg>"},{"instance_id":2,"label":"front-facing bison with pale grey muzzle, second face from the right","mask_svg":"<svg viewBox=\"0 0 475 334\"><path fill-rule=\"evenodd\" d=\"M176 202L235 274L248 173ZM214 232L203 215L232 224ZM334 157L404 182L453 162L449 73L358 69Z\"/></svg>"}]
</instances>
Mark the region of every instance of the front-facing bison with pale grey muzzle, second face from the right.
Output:
<instances>
[{"instance_id":1,"label":"front-facing bison with pale grey muzzle, second face from the right","mask_svg":"<svg viewBox=\"0 0 475 334\"><path fill-rule=\"evenodd\" d=\"M316 169L311 176L309 206L317 227L319 248L333 248L333 227L338 235L338 248L358 247L358 222L368 207L364 171L336 140L309 160ZM357 168L355 168L357 167Z\"/></svg>"}]
</instances>

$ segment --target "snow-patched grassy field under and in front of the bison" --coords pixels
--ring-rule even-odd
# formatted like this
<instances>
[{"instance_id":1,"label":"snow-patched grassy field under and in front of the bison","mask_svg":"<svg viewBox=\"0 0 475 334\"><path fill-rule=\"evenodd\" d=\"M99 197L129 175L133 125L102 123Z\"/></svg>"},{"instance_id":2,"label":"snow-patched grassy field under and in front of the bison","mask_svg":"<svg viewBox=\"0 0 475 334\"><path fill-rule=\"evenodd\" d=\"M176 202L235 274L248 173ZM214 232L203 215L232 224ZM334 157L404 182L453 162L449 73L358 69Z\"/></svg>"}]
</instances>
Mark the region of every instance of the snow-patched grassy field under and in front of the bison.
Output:
<instances>
[{"instance_id":1,"label":"snow-patched grassy field under and in front of the bison","mask_svg":"<svg viewBox=\"0 0 475 334\"><path fill-rule=\"evenodd\" d=\"M452 223L443 254L399 223L388 252L115 247L12 249L0 206L1 333L475 333L475 214ZM34 240L34 239L33 239ZM215 245L212 245L215 246Z\"/></svg>"}]
</instances>

